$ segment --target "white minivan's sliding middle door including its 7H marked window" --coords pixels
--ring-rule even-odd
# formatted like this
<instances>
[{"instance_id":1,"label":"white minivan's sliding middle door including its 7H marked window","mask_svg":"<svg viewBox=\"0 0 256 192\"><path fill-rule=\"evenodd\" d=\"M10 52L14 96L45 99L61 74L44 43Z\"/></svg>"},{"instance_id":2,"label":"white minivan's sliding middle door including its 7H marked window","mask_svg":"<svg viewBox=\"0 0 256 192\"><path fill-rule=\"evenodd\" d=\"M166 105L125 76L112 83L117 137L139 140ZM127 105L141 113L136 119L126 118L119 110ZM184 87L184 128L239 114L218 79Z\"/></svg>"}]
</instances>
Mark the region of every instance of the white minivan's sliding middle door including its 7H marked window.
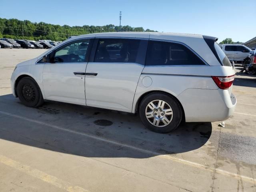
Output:
<instances>
[{"instance_id":1,"label":"white minivan's sliding middle door including its 7H marked window","mask_svg":"<svg viewBox=\"0 0 256 192\"><path fill-rule=\"evenodd\" d=\"M148 40L95 39L95 57L86 68L86 105L132 112L132 103L144 68Z\"/></svg>"}]
</instances>

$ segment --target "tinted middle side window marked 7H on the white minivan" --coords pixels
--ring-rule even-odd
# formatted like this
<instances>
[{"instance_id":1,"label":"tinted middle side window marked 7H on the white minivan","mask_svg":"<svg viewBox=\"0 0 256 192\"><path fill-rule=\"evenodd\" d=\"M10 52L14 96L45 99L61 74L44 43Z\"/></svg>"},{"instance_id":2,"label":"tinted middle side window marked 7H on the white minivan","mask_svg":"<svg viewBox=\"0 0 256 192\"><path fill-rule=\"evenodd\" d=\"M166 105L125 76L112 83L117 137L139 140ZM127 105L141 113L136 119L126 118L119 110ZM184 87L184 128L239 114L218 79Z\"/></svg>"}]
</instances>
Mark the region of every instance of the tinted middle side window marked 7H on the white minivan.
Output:
<instances>
[{"instance_id":1,"label":"tinted middle side window marked 7H on the white minivan","mask_svg":"<svg viewBox=\"0 0 256 192\"><path fill-rule=\"evenodd\" d=\"M94 62L136 62L140 40L101 38Z\"/></svg>"}]
</instances>

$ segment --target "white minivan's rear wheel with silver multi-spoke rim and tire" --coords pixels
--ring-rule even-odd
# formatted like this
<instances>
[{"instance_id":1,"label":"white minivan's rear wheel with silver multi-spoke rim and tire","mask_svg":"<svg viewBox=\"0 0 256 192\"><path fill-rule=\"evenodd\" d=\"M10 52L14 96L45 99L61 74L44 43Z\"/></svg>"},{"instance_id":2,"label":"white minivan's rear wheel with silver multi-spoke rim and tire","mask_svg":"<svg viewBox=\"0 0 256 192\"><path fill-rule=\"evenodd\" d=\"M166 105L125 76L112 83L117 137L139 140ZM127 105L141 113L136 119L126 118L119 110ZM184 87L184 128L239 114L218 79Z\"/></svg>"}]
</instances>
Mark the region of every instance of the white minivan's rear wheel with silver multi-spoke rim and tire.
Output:
<instances>
[{"instance_id":1,"label":"white minivan's rear wheel with silver multi-spoke rim and tire","mask_svg":"<svg viewBox=\"0 0 256 192\"><path fill-rule=\"evenodd\" d=\"M168 94L152 93L139 106L139 114L146 128L157 133L175 130L182 120L182 109L178 101Z\"/></svg>"}]
</instances>

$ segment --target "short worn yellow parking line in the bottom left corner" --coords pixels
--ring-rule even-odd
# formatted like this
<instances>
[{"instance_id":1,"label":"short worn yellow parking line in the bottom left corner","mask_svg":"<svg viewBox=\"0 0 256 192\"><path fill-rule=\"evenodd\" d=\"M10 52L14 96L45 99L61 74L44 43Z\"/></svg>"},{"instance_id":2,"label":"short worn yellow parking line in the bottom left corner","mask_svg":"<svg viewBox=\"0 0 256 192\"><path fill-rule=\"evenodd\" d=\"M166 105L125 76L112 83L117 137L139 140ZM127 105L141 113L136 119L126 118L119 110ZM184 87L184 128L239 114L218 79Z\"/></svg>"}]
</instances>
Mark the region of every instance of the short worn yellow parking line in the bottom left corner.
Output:
<instances>
[{"instance_id":1,"label":"short worn yellow parking line in the bottom left corner","mask_svg":"<svg viewBox=\"0 0 256 192\"><path fill-rule=\"evenodd\" d=\"M5 156L2 156L2 155L0 155L0 163L3 163L7 166L15 168L16 170L24 172L34 178L40 179L44 182L52 184L58 188L66 190L68 192L89 192L88 190L85 190L84 188L81 188L78 186L72 186L69 182L65 182L59 178L56 178L55 176L44 173L38 169L31 168L30 166L20 164L19 162L14 161L14 160L7 158Z\"/></svg>"}]
</instances>

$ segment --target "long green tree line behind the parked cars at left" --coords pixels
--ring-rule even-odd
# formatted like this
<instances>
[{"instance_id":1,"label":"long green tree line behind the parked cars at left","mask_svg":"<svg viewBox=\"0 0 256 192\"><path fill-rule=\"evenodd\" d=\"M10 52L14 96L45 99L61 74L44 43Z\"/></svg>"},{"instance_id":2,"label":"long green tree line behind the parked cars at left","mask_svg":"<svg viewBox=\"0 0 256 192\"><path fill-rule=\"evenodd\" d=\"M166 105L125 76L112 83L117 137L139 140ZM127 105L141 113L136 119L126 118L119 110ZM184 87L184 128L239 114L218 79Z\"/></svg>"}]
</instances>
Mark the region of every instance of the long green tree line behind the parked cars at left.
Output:
<instances>
[{"instance_id":1,"label":"long green tree line behind the parked cars at left","mask_svg":"<svg viewBox=\"0 0 256 192\"><path fill-rule=\"evenodd\" d=\"M70 36L77 36L100 32L157 32L143 27L115 26L113 24L104 26L68 26L54 25L45 22L30 22L29 20L0 18L0 38L63 41ZM23 38L24 36L24 38Z\"/></svg>"}]
</instances>

